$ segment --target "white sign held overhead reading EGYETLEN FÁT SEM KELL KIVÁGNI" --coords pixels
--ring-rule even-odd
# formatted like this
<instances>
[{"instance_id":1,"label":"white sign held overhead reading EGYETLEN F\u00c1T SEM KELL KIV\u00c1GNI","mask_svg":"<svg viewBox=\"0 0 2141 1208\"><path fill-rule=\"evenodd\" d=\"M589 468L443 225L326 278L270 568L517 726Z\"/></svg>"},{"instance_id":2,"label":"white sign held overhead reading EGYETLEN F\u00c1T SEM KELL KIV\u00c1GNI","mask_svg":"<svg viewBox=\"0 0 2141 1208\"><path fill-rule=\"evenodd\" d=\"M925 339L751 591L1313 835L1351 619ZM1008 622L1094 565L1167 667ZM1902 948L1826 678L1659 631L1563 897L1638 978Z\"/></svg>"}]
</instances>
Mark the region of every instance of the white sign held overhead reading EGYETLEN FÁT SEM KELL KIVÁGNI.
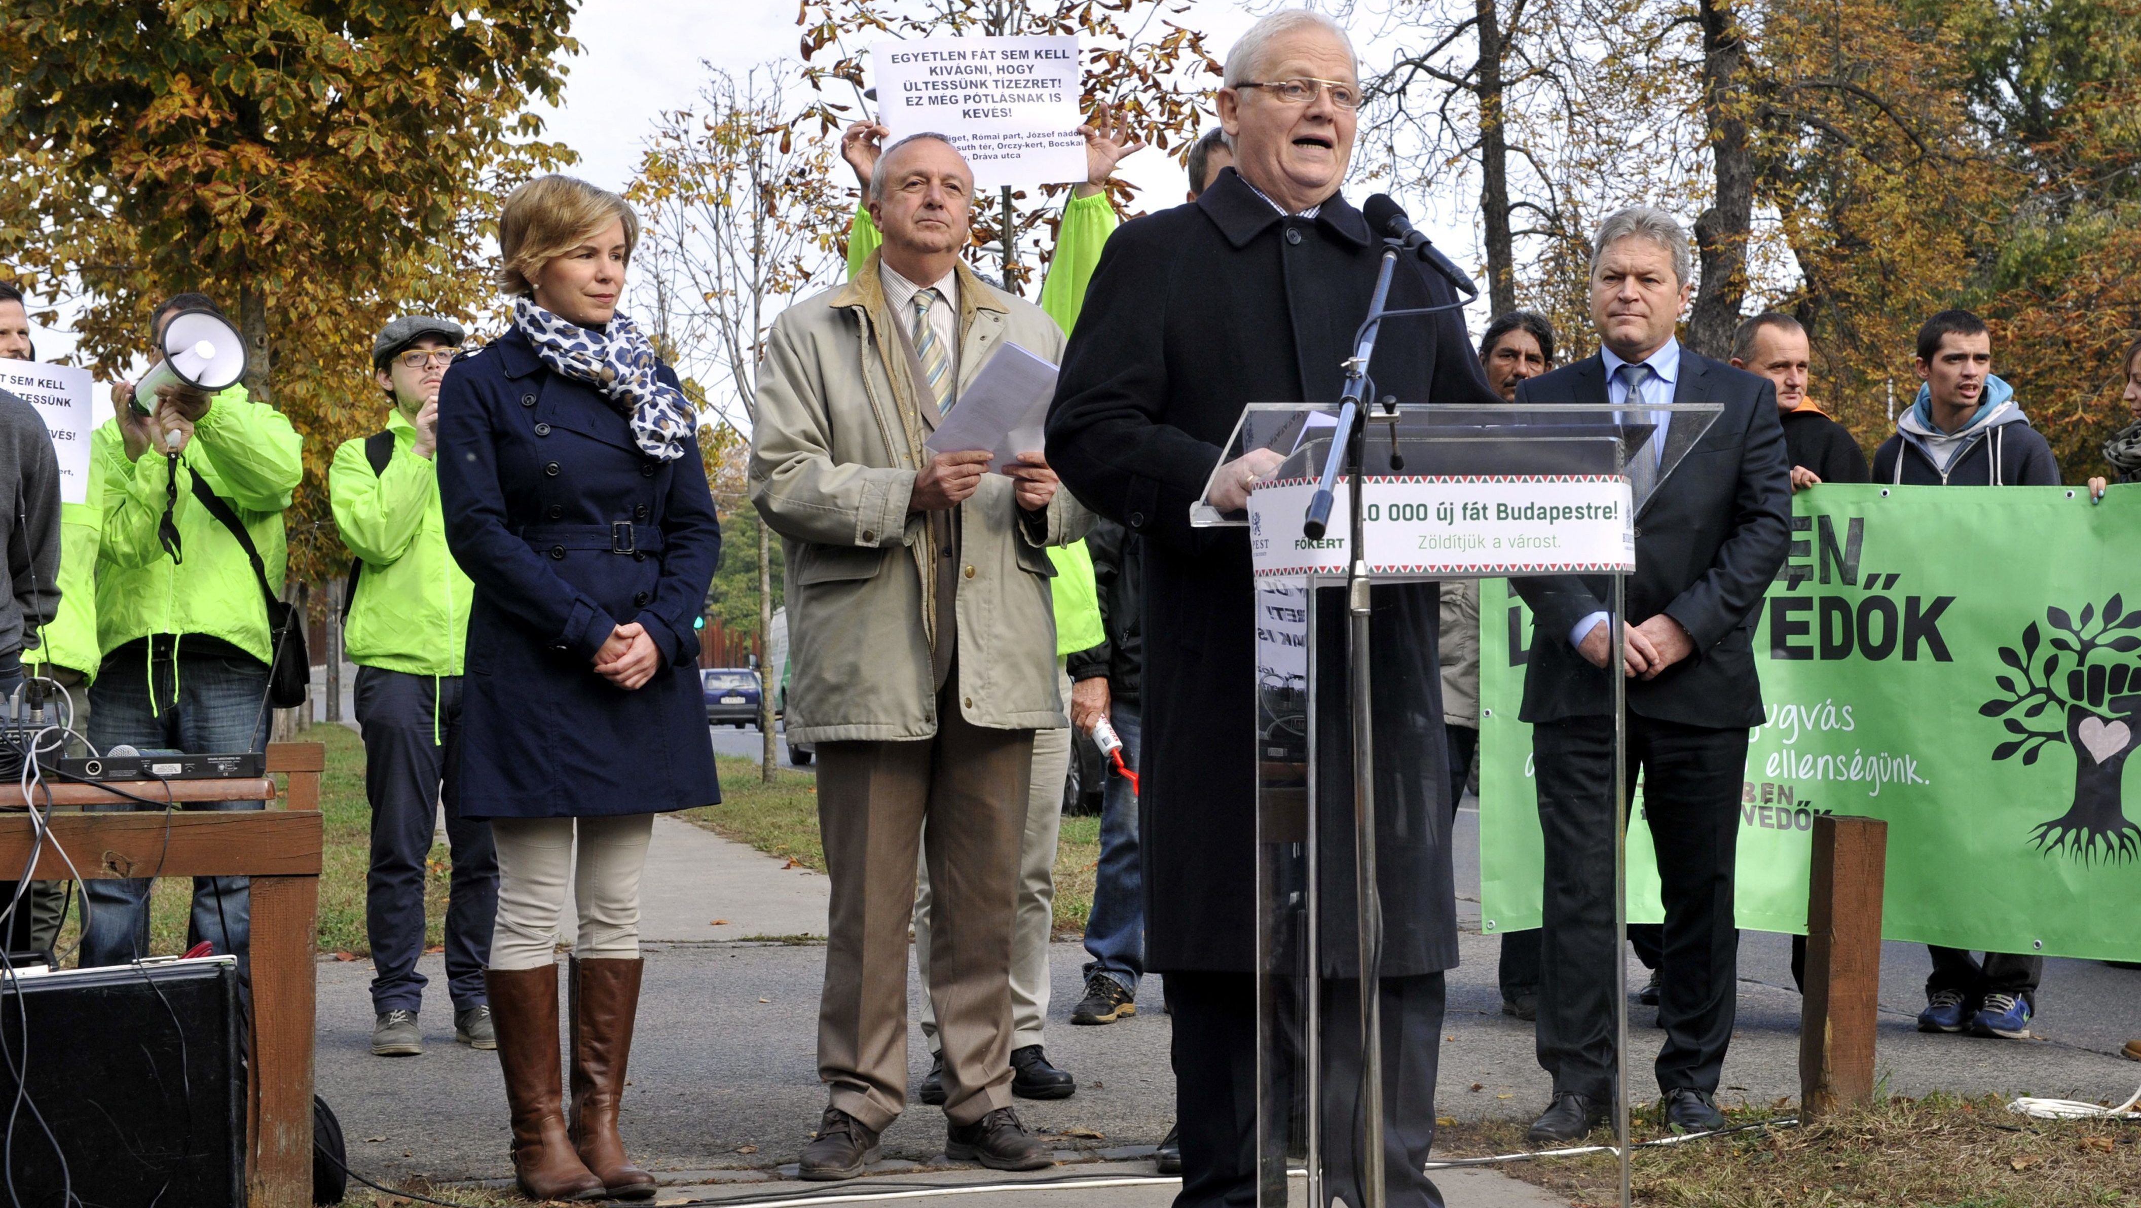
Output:
<instances>
[{"instance_id":1,"label":"white sign held overhead reading EGYETLEN F\u00c1T SEM KELL KIV\u00c1GNI","mask_svg":"<svg viewBox=\"0 0 2141 1208\"><path fill-rule=\"evenodd\" d=\"M1085 180L1075 36L916 39L869 47L891 139L951 139L976 188Z\"/></svg>"}]
</instances>

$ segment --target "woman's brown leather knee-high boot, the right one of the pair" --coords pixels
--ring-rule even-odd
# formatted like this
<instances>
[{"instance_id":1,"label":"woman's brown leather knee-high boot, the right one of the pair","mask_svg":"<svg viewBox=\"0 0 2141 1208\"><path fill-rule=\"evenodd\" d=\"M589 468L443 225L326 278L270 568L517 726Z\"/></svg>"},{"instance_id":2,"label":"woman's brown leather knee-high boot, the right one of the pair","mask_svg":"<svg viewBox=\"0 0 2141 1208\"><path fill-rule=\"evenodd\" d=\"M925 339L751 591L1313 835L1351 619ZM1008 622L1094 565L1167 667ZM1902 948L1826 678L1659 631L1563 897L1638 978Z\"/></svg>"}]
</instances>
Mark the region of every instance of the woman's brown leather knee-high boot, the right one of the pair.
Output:
<instances>
[{"instance_id":1,"label":"woman's brown leather knee-high boot, the right one of the pair","mask_svg":"<svg viewBox=\"0 0 2141 1208\"><path fill-rule=\"evenodd\" d=\"M642 960L572 957L572 1144L612 1199L647 1199L655 1176L632 1165L617 1135Z\"/></svg>"}]
</instances>

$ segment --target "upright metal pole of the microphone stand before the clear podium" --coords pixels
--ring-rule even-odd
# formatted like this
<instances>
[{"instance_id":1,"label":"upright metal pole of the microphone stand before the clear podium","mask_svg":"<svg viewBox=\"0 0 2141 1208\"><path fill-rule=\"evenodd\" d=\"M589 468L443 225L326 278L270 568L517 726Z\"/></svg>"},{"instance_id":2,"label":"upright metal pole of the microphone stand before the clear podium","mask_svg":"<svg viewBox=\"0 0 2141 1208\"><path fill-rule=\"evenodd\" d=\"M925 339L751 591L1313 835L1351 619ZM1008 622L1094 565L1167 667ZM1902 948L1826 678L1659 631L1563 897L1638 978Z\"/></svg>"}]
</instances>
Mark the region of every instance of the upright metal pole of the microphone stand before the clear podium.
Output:
<instances>
[{"instance_id":1,"label":"upright metal pole of the microphone stand before the clear podium","mask_svg":"<svg viewBox=\"0 0 2141 1208\"><path fill-rule=\"evenodd\" d=\"M1368 542L1362 478L1366 424L1353 424L1349 484L1353 570L1347 578L1347 673L1353 696L1353 910L1360 932L1360 1206L1383 1208L1383 895L1375 872L1375 703L1370 698Z\"/></svg>"}]
</instances>

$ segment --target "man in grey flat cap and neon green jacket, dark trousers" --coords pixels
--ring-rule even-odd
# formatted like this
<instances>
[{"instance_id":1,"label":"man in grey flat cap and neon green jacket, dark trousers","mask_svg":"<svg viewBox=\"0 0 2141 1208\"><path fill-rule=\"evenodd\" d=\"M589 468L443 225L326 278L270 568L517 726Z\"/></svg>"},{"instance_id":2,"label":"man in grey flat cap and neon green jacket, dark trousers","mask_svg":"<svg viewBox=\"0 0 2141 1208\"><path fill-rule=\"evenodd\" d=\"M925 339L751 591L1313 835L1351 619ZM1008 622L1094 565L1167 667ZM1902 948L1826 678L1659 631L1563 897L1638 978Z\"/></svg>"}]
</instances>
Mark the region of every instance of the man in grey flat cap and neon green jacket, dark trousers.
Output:
<instances>
[{"instance_id":1,"label":"man in grey flat cap and neon green jacket, dark trousers","mask_svg":"<svg viewBox=\"0 0 2141 1208\"><path fill-rule=\"evenodd\" d=\"M460 673L469 638L469 576L445 548L439 510L439 381L465 332L452 319L403 315L373 341L373 379L388 394L388 426L343 441L328 497L355 555L343 640L358 664L364 797L373 805L373 861L364 934L373 945L373 1054L424 1052L417 1011L426 979L424 863L445 799L454 852L445 904L445 977L454 1039L499 1047L484 992L490 925L499 908L499 855L490 822L460 816L445 777L460 745Z\"/></svg>"}]
</instances>

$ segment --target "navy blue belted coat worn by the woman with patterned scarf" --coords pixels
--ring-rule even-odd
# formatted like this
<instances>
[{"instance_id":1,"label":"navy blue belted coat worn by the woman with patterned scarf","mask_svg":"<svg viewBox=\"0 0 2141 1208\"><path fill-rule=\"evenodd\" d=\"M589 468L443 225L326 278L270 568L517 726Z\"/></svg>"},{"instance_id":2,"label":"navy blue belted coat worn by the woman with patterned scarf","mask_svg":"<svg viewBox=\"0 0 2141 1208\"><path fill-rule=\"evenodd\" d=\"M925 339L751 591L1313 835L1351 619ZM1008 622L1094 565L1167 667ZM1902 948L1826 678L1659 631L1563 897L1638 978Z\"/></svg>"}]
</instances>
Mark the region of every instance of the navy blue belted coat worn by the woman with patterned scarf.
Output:
<instances>
[{"instance_id":1,"label":"navy blue belted coat worn by the woman with patterned scarf","mask_svg":"<svg viewBox=\"0 0 2141 1208\"><path fill-rule=\"evenodd\" d=\"M662 366L662 377L677 375ZM722 525L698 450L655 460L591 386L512 330L439 386L439 501L475 580L460 703L460 812L597 818L722 799L698 681ZM595 675L638 621L662 670L636 692Z\"/></svg>"}]
</instances>

